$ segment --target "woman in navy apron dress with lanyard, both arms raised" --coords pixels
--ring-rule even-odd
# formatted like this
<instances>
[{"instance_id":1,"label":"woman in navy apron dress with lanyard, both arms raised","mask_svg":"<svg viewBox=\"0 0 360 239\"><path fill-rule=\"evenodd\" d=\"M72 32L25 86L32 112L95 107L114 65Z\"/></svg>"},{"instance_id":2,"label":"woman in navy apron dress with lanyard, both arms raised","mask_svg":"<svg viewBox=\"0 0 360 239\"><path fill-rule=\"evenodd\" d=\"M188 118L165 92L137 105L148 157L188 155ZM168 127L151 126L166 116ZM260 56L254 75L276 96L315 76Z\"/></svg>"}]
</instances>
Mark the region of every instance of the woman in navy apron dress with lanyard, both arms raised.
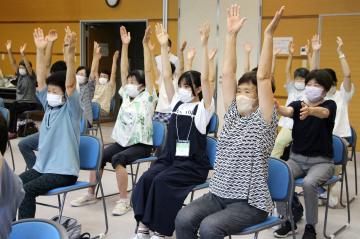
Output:
<instances>
[{"instance_id":1,"label":"woman in navy apron dress with lanyard, both arms raised","mask_svg":"<svg viewBox=\"0 0 360 239\"><path fill-rule=\"evenodd\" d=\"M135 219L139 223L134 238L141 239L150 238L150 230L155 233L151 239L173 234L175 217L185 198L196 185L205 182L211 168L206 155L206 128L214 113L214 90L208 79L208 61L201 74L197 71L182 74L175 94L166 45L168 35L160 24L156 26L156 34L161 45L166 92L172 99L172 114L164 153L141 176L132 195ZM202 28L201 36L207 59L208 25Z\"/></svg>"}]
</instances>

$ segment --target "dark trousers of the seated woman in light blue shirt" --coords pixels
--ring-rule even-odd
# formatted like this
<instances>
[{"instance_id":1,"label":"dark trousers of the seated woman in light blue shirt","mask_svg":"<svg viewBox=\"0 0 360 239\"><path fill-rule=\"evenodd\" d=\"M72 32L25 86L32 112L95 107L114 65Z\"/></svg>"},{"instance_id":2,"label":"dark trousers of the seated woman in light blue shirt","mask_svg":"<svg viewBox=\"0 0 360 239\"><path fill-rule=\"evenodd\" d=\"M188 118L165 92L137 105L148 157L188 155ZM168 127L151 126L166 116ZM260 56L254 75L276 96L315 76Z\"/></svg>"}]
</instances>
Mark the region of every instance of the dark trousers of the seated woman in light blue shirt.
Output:
<instances>
[{"instance_id":1,"label":"dark trousers of the seated woman in light blue shirt","mask_svg":"<svg viewBox=\"0 0 360 239\"><path fill-rule=\"evenodd\" d=\"M25 190L25 198L19 208L19 219L35 217L35 198L44 195L54 188L69 186L76 183L77 177L61 174L42 174L30 169L22 174L20 178Z\"/></svg>"}]
</instances>

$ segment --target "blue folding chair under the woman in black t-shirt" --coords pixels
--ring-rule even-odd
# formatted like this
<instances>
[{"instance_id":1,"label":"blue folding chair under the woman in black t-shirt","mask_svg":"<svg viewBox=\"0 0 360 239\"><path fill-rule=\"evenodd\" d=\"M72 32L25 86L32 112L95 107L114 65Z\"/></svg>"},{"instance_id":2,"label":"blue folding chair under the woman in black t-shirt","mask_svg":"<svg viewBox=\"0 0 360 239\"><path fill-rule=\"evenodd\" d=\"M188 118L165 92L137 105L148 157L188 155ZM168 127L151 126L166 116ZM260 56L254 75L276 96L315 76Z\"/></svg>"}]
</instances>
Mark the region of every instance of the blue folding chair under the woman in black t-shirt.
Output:
<instances>
[{"instance_id":1,"label":"blue folding chair under the woman in black t-shirt","mask_svg":"<svg viewBox=\"0 0 360 239\"><path fill-rule=\"evenodd\" d=\"M339 176L332 176L324 185L327 186L327 199L330 196L331 185L341 182L341 192L343 188L343 182L345 179L345 189L346 189L346 207L347 207L347 223L341 226L338 230L336 230L333 234L327 234L327 220L328 220L328 211L329 211L329 200L326 200L326 207L325 207L325 220L324 220L324 229L323 234L325 238L335 238L340 232L345 230L350 226L350 202L349 202L349 188L348 188L348 179L347 179L347 172L346 172L346 164L348 161L348 156L346 155L346 147L344 142L340 137L333 135L333 160L335 165L342 166L342 172ZM302 187L304 184L304 179L299 178L295 180L295 185L297 187ZM342 194L342 193L341 193Z\"/></svg>"}]
</instances>

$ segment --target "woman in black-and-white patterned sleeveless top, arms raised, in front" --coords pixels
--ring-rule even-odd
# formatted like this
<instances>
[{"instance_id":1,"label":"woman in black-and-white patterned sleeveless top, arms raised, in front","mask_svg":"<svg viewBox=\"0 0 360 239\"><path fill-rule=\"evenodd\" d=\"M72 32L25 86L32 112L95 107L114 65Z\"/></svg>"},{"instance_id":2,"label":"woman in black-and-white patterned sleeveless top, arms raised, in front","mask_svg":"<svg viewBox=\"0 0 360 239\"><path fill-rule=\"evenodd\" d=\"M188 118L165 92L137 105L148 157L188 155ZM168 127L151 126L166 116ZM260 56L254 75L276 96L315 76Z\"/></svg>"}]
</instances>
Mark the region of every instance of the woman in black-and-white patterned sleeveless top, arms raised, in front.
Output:
<instances>
[{"instance_id":1,"label":"woman in black-and-white patterned sleeveless top, arms raised, in front","mask_svg":"<svg viewBox=\"0 0 360 239\"><path fill-rule=\"evenodd\" d=\"M258 71L245 73L236 85L237 34L246 18L240 7L228 9L222 69L227 110L218 143L210 192L177 215L176 238L218 239L260 223L272 210L267 186L268 157L274 145L277 113L274 107L271 62L273 33L282 7L264 32Z\"/></svg>"}]
</instances>

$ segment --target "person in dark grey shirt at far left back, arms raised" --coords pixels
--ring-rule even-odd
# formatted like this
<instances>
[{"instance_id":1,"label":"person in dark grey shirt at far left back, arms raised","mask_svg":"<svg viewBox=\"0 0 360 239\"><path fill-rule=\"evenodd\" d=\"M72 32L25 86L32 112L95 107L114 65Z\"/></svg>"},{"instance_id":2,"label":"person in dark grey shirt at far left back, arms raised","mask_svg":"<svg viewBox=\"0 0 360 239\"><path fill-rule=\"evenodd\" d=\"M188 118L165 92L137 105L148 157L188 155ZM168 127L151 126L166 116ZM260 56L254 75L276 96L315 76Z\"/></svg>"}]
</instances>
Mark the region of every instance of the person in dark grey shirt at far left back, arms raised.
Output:
<instances>
[{"instance_id":1,"label":"person in dark grey shirt at far left back, arms raised","mask_svg":"<svg viewBox=\"0 0 360 239\"><path fill-rule=\"evenodd\" d=\"M20 47L20 54L22 60L19 65L16 64L16 60L12 53L12 42L8 40L6 42L6 50L8 53L10 64L15 71L16 80L11 83L16 85L16 101L11 104L10 111L10 126L9 126L9 138L16 138L17 132L17 120L19 116L28 110L34 110L38 107L36 100L36 75L33 72L32 64L27 60L25 50L26 43Z\"/></svg>"}]
</instances>

